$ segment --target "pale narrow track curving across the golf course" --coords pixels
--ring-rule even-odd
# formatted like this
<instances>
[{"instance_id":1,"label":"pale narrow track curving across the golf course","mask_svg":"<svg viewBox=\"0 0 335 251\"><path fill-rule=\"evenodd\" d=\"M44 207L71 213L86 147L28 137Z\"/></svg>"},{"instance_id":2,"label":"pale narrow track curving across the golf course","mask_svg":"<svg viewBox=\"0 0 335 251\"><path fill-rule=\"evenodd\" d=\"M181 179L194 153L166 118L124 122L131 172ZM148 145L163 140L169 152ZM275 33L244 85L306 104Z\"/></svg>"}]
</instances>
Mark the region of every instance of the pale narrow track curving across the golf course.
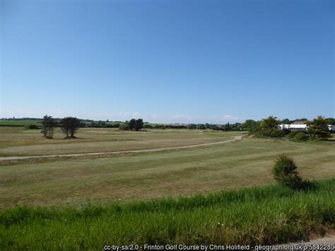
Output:
<instances>
[{"instance_id":1,"label":"pale narrow track curving across the golf course","mask_svg":"<svg viewBox=\"0 0 335 251\"><path fill-rule=\"evenodd\" d=\"M73 157L73 156L96 156L96 155L104 155L104 154L119 154L119 153L149 153L154 151L165 151L165 150L176 150L176 149L184 149L184 148L194 148L198 146L213 146L219 144L225 144L233 141L242 140L243 135L234 136L232 139L228 139L225 141L204 143L204 144L196 144L189 146L171 146L171 147L163 147L163 148L153 148L153 149L141 149L141 150L129 150L129 151L106 151L101 153L67 153L67 154L52 154L52 155L40 155L40 156L10 156L10 157L0 157L1 160L22 160L27 158L54 158L54 157Z\"/></svg>"}]
</instances>

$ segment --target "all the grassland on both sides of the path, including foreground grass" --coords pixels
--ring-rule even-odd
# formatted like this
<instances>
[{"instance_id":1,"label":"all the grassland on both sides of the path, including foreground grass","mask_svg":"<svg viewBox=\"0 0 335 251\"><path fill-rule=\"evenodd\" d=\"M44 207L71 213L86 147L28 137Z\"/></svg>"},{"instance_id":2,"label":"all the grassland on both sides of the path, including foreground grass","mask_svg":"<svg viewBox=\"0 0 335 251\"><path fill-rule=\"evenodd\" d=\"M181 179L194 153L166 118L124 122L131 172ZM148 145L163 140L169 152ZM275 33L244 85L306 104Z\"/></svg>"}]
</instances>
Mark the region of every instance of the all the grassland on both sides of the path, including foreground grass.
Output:
<instances>
[{"instance_id":1,"label":"all the grassland on both sides of the path, including foreground grass","mask_svg":"<svg viewBox=\"0 0 335 251\"><path fill-rule=\"evenodd\" d=\"M86 128L78 139L62 139L57 131L49 140L38 130L0 127L0 154L184 146L241 134ZM292 191L274 185L271 168L280 153L292 156L316 188ZM334 141L255 138L117 156L0 160L0 250L307 239L335 228L334 167Z\"/></svg>"}]
</instances>

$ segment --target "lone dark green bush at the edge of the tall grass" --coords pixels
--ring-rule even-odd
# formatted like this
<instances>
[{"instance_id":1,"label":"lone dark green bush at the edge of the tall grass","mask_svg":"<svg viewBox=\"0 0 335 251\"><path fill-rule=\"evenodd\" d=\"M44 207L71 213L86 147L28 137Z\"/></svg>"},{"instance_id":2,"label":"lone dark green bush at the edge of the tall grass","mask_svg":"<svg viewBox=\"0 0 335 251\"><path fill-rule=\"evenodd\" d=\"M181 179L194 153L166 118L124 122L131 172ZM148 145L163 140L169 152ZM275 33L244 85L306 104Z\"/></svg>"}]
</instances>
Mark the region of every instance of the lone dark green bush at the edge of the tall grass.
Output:
<instances>
[{"instance_id":1,"label":"lone dark green bush at the edge of the tall grass","mask_svg":"<svg viewBox=\"0 0 335 251\"><path fill-rule=\"evenodd\" d=\"M281 155L277 158L272 169L275 180L283 187L291 189L302 188L302 178L299 176L294 160L288 156Z\"/></svg>"}]
</instances>

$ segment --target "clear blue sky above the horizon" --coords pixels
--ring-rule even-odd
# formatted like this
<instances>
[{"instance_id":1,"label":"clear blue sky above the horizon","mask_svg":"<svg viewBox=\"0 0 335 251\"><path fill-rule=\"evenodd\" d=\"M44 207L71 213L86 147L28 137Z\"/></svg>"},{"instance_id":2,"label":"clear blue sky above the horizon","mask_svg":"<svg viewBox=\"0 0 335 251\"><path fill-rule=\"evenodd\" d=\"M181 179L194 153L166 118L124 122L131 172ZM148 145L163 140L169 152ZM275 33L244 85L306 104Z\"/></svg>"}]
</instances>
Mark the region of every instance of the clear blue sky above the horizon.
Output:
<instances>
[{"instance_id":1,"label":"clear blue sky above the horizon","mask_svg":"<svg viewBox=\"0 0 335 251\"><path fill-rule=\"evenodd\" d=\"M332 0L0 1L0 117L335 117Z\"/></svg>"}]
</instances>

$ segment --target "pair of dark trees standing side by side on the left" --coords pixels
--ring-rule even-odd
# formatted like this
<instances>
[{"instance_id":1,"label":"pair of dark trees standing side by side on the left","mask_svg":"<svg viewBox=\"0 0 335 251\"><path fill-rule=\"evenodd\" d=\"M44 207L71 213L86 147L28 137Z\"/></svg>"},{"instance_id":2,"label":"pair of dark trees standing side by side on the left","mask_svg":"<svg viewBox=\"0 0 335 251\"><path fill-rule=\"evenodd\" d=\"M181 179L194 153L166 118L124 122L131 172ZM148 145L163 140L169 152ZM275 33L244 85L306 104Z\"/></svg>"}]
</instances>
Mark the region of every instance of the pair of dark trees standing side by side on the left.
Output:
<instances>
[{"instance_id":1,"label":"pair of dark trees standing side by side on the left","mask_svg":"<svg viewBox=\"0 0 335 251\"><path fill-rule=\"evenodd\" d=\"M67 139L74 139L76 132L81 125L81 120L76 117L64 117L57 122L52 116L45 115L42 119L42 134L47 139L52 139L54 136L54 128L60 127Z\"/></svg>"}]
</instances>

